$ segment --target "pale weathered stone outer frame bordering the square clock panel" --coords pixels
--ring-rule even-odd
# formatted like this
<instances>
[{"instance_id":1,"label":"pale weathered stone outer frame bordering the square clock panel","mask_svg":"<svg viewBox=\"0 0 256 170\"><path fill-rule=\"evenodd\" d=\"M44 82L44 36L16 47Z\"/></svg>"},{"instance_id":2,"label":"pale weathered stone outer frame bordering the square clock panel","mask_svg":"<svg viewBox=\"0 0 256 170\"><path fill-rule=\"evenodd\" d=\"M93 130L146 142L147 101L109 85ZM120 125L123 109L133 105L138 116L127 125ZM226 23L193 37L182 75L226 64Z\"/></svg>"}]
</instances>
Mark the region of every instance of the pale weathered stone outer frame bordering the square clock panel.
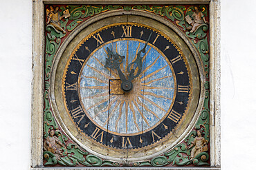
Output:
<instances>
[{"instance_id":1,"label":"pale weathered stone outer frame bordering the square clock panel","mask_svg":"<svg viewBox=\"0 0 256 170\"><path fill-rule=\"evenodd\" d=\"M31 170L67 169L221 169L221 56L220 56L221 0L33 0L33 83L31 112ZM44 167L44 4L198 4L210 5L210 166L211 167Z\"/></svg>"}]
</instances>

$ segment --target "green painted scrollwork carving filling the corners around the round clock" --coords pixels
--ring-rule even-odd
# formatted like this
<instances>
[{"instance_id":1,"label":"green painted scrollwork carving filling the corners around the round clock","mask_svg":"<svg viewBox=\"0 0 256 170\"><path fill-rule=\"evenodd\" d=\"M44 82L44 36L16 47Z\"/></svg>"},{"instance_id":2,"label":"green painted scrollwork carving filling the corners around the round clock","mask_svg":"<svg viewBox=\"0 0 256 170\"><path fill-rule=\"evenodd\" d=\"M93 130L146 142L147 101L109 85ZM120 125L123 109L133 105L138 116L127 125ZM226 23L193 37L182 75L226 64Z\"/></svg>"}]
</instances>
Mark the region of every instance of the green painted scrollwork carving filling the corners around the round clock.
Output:
<instances>
[{"instance_id":1,"label":"green painted scrollwork carving filling the corners around the round clock","mask_svg":"<svg viewBox=\"0 0 256 170\"><path fill-rule=\"evenodd\" d=\"M162 17L167 17L174 24L179 26L183 32L191 39L196 49L201 55L203 61L206 78L209 78L209 47L208 47L208 24L203 23L194 30L190 31L190 24L186 20L195 11L194 6L186 8L185 6L119 6L119 5L109 5L109 6L64 6L60 7L60 15L63 15L64 10L68 10L70 17L60 21L60 27L63 30L68 30L71 32L82 23L87 17L93 17L95 14L100 14L101 12L111 11L111 10L145 10L147 12L153 12L154 14L161 15ZM199 6L199 9L207 17L207 7ZM71 21L71 22L69 22ZM69 23L69 24L68 24ZM68 25L67 25L68 24ZM109 167L119 167L123 164L118 162L111 162L109 160L102 160L97 156L89 154L83 151L73 142L68 142L68 138L62 133L62 131L57 130L59 126L53 116L51 111L51 105L48 98L49 89L49 79L51 75L51 67L53 64L53 59L55 54L60 47L61 39L65 39L66 32L57 30L55 26L48 24L46 25L46 55L45 55L45 91L44 91L44 138L50 136L50 131L55 130L55 136L62 143L60 150L62 151L62 156L56 156L56 154L51 151L44 151L44 160L46 160L45 166L60 164L62 166L109 166ZM153 166L161 167L167 164L185 166L188 164L194 164L196 166L208 165L209 155L207 146L204 147L204 151L198 153L194 158L192 157L192 142L195 141L198 135L197 131L201 131L202 138L205 139L206 145L209 142L209 82L207 81L204 85L205 87L205 100L203 104L203 110L199 116L199 120L194 126L194 130L190 132L190 135L185 138L181 144L177 145L174 149L167 151L162 156L157 156L152 160L146 162L135 162L129 164L129 166L142 167L142 166Z\"/></svg>"}]
</instances>

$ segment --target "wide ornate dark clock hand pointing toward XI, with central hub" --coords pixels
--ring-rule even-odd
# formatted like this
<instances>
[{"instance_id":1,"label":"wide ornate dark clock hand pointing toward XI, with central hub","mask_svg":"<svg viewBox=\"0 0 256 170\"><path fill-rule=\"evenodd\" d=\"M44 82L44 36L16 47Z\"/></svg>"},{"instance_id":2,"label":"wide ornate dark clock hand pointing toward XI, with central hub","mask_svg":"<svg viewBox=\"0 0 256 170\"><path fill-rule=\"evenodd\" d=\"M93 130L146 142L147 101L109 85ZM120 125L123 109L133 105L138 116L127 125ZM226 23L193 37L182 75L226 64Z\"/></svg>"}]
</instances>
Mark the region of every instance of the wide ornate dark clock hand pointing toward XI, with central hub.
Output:
<instances>
[{"instance_id":1,"label":"wide ornate dark clock hand pointing toward XI, with central hub","mask_svg":"<svg viewBox=\"0 0 256 170\"><path fill-rule=\"evenodd\" d=\"M131 91L133 85L131 81L127 80L125 78L125 74L122 73L120 70L120 64L122 63L123 59L125 59L125 56L121 56L119 54L114 54L111 50L109 50L109 47L107 47L107 55L108 58L106 58L106 63L104 67L109 67L110 69L116 69L118 71L118 76L120 77L121 83L121 89L124 92Z\"/></svg>"}]
</instances>

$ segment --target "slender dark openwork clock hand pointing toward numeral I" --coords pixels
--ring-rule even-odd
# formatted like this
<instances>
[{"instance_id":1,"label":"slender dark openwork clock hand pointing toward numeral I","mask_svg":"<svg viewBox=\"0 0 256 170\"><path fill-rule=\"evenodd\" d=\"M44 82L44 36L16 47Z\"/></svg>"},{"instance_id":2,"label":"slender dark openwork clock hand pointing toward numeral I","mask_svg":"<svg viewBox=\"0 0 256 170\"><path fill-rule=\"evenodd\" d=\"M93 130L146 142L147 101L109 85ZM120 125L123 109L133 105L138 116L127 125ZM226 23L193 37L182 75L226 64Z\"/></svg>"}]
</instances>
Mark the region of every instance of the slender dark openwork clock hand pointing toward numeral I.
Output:
<instances>
[{"instance_id":1,"label":"slender dark openwork clock hand pointing toward numeral I","mask_svg":"<svg viewBox=\"0 0 256 170\"><path fill-rule=\"evenodd\" d=\"M146 51L146 47L147 47L147 43L149 42L149 39L152 35L152 32L149 35L149 38L147 39L147 42L145 43L143 49L141 49L138 54L137 54L137 59L134 62L129 63L128 67L127 67L127 72L129 72L129 78L128 80L131 81L134 78L138 77L142 71L142 67L143 67L143 57L140 57L141 52L145 53ZM133 65L134 63L136 63L137 67L138 67L138 72L137 74L134 76L134 69L130 69L131 65Z\"/></svg>"}]
</instances>

